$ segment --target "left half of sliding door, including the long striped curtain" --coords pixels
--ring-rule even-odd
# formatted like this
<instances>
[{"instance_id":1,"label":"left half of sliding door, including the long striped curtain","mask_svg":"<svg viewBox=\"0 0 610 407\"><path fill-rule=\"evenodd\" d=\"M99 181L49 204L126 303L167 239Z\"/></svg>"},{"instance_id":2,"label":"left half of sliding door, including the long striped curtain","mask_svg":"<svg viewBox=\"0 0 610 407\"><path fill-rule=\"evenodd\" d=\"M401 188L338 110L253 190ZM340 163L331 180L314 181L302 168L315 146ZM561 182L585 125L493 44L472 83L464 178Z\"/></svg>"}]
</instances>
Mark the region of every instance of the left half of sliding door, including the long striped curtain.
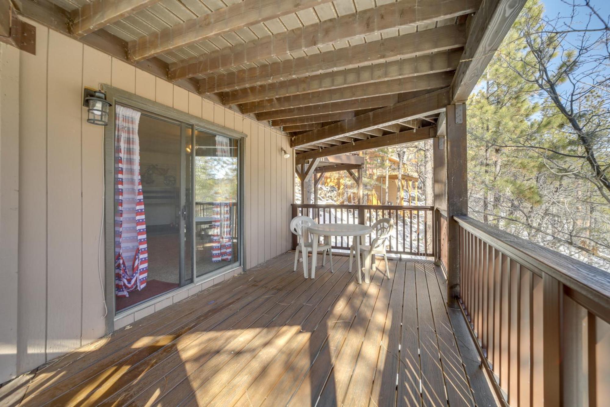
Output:
<instances>
[{"instance_id":1,"label":"left half of sliding door, including the long striped curtain","mask_svg":"<svg viewBox=\"0 0 610 407\"><path fill-rule=\"evenodd\" d=\"M183 255L189 185L185 174L188 160L182 147L186 138L184 124L135 109L122 111L133 116L134 131L127 140L124 134L117 138L121 149L115 150L116 160L121 163L118 174L122 175L117 176L115 185L117 191L119 187L123 190L120 195L115 194L116 218L120 222L115 229L115 263L120 263L122 269L120 274L115 270L120 278L117 311L192 281L190 262L185 265ZM129 191L137 205L130 205ZM134 249L130 250L130 246ZM137 273L140 277L135 281L132 276Z\"/></svg>"}]
</instances>

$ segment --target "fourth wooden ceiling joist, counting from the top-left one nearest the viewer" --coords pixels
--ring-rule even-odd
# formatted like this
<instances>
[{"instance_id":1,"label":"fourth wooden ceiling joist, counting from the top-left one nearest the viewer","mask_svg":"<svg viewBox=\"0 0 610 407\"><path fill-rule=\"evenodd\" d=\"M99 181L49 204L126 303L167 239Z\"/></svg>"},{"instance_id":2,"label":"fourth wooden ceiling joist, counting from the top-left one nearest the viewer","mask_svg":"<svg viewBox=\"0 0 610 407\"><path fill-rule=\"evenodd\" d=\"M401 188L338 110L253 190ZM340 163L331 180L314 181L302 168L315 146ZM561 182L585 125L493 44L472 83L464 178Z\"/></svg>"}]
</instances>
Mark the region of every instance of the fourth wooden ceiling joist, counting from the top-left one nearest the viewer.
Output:
<instances>
[{"instance_id":1,"label":"fourth wooden ceiling joist, counting from the top-left one nearest the viewer","mask_svg":"<svg viewBox=\"0 0 610 407\"><path fill-rule=\"evenodd\" d=\"M286 81L296 76L313 75L364 63L374 64L392 58L407 58L418 54L452 50L464 46L465 43L465 24L452 24L346 46L339 50L273 62L224 75L210 76L201 79L200 89L203 94L213 94L267 82Z\"/></svg>"}]
</instances>

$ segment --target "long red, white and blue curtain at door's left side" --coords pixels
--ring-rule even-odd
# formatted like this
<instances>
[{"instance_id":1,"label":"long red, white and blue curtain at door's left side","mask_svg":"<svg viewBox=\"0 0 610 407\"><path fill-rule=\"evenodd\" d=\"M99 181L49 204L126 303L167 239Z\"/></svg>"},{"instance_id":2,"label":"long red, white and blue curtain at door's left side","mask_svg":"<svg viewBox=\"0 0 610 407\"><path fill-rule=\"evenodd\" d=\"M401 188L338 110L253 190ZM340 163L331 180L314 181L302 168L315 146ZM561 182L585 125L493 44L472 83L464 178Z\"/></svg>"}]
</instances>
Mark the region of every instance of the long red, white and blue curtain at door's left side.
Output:
<instances>
[{"instance_id":1,"label":"long red, white and blue curtain at door's left side","mask_svg":"<svg viewBox=\"0 0 610 407\"><path fill-rule=\"evenodd\" d=\"M115 287L117 296L146 287L148 245L142 177L140 177L140 112L115 108Z\"/></svg>"}]
</instances>

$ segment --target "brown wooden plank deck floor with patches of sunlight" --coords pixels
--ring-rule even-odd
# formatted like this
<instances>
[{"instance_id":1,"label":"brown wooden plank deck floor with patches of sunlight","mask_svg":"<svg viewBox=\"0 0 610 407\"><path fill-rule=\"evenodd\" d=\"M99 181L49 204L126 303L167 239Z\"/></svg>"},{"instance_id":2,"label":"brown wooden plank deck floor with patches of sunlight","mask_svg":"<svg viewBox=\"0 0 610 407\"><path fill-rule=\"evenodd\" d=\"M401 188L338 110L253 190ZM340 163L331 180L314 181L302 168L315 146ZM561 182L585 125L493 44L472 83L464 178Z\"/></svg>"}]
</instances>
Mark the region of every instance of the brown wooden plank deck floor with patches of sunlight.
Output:
<instances>
[{"instance_id":1,"label":"brown wooden plank deck floor with patches of sunlight","mask_svg":"<svg viewBox=\"0 0 610 407\"><path fill-rule=\"evenodd\" d=\"M315 280L292 262L282 254L138 320L13 391L27 406L493 403L431 262L390 261L391 279L379 263L361 285L347 257Z\"/></svg>"}]
</instances>

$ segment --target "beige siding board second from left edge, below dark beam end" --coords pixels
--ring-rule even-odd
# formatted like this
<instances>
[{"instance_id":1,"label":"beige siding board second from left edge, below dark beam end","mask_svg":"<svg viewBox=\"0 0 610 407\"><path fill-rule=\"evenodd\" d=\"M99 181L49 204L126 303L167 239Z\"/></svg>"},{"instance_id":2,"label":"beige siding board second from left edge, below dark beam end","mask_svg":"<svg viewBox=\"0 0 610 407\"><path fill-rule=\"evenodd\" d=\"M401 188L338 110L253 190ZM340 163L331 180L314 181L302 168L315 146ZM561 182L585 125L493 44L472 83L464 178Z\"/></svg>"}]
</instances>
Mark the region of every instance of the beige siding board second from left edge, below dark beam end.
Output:
<instances>
[{"instance_id":1,"label":"beige siding board second from left edge, below dark beam end","mask_svg":"<svg viewBox=\"0 0 610 407\"><path fill-rule=\"evenodd\" d=\"M35 24L36 55L20 53L17 371L46 362L46 58L49 29ZM41 210L42 208L42 210ZM36 248L32 255L28 248Z\"/></svg>"}]
</instances>

